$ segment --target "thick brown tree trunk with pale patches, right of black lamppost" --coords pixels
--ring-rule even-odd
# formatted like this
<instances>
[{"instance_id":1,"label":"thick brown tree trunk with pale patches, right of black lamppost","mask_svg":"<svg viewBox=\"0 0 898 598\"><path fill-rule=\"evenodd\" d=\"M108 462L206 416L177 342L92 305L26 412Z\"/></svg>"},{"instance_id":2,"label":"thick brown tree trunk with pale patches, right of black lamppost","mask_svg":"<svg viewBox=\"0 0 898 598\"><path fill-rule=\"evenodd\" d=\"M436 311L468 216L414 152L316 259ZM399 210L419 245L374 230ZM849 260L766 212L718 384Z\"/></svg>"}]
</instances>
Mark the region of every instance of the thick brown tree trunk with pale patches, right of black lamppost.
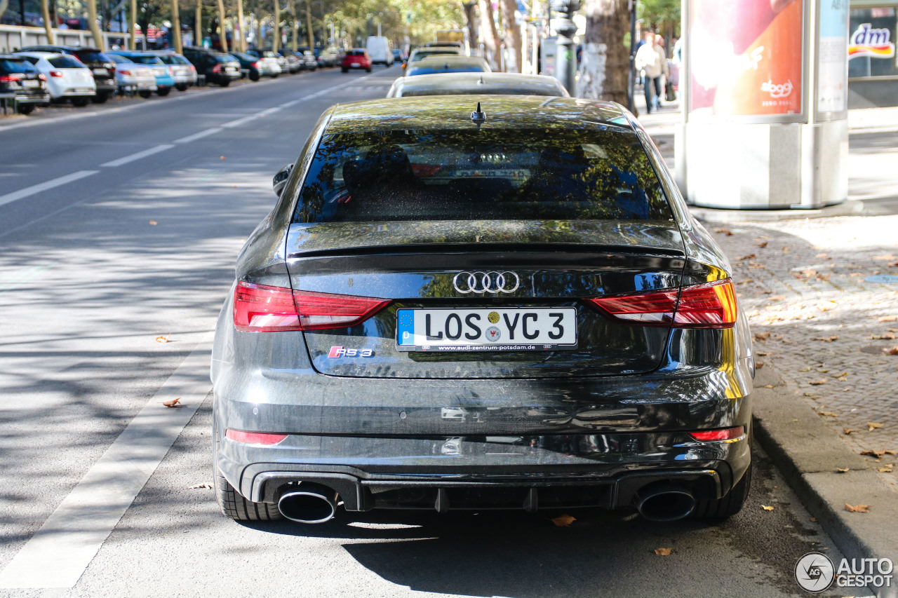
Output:
<instances>
[{"instance_id":1,"label":"thick brown tree trunk with pale patches, right of black lamppost","mask_svg":"<svg viewBox=\"0 0 898 598\"><path fill-rule=\"evenodd\" d=\"M629 51L624 33L629 31L627 0L586 0L586 31L580 65L578 95L590 100L610 100L627 105Z\"/></svg>"}]
</instances>

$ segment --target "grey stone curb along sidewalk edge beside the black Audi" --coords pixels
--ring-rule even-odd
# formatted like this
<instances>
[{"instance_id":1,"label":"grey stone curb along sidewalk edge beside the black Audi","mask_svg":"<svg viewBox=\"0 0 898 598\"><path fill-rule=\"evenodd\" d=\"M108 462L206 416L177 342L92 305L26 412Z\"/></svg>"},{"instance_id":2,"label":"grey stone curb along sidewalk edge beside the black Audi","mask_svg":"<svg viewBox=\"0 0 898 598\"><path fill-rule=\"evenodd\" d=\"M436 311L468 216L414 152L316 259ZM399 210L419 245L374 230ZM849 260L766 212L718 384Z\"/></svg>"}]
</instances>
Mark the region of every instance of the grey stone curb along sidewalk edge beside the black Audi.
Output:
<instances>
[{"instance_id":1,"label":"grey stone curb along sidewalk edge beside the black Audi","mask_svg":"<svg viewBox=\"0 0 898 598\"><path fill-rule=\"evenodd\" d=\"M756 438L846 558L891 558L898 565L898 493L835 437L795 391L770 364L758 370ZM836 468L849 471L838 473ZM871 508L866 514L849 513L846 503ZM869 589L878 598L898 598L896 583L898 570L891 586Z\"/></svg>"}]
</instances>

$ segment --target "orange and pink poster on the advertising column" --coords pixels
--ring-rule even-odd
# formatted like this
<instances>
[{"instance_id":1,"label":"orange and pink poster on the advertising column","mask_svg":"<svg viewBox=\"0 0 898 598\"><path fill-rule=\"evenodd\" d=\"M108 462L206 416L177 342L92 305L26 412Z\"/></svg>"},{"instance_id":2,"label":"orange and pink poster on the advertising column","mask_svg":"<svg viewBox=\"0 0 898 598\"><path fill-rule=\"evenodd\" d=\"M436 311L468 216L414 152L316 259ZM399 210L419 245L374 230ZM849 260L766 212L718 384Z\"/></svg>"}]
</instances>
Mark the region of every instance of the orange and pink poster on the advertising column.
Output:
<instances>
[{"instance_id":1,"label":"orange and pink poster on the advertising column","mask_svg":"<svg viewBox=\"0 0 898 598\"><path fill-rule=\"evenodd\" d=\"M691 112L800 114L805 1L691 0Z\"/></svg>"}]
</instances>

